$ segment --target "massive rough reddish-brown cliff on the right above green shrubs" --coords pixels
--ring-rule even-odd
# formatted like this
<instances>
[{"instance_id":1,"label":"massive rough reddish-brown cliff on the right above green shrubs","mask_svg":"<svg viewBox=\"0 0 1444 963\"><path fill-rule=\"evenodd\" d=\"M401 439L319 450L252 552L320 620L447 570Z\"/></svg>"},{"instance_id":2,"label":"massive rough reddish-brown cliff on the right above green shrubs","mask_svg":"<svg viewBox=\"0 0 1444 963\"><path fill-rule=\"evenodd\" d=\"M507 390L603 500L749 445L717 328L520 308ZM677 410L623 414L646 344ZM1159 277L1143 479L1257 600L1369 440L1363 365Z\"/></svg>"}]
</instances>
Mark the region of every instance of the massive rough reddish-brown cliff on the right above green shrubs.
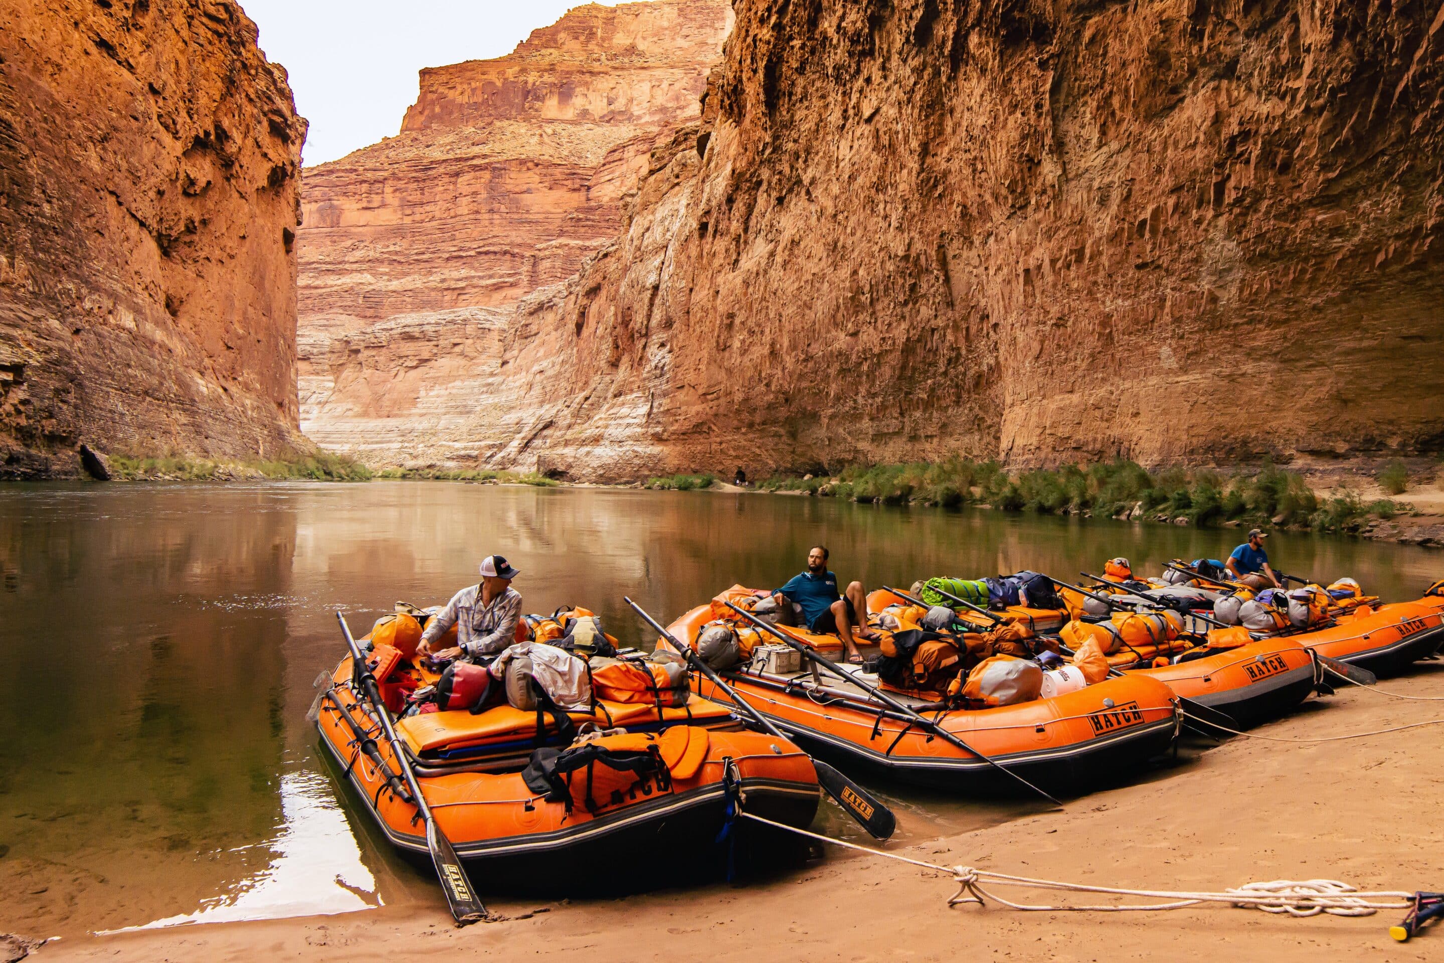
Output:
<instances>
[{"instance_id":1,"label":"massive rough reddish-brown cliff on the right above green shrubs","mask_svg":"<svg viewBox=\"0 0 1444 963\"><path fill-rule=\"evenodd\" d=\"M521 302L422 459L1440 449L1444 9L735 6L617 241Z\"/></svg>"}]
</instances>

